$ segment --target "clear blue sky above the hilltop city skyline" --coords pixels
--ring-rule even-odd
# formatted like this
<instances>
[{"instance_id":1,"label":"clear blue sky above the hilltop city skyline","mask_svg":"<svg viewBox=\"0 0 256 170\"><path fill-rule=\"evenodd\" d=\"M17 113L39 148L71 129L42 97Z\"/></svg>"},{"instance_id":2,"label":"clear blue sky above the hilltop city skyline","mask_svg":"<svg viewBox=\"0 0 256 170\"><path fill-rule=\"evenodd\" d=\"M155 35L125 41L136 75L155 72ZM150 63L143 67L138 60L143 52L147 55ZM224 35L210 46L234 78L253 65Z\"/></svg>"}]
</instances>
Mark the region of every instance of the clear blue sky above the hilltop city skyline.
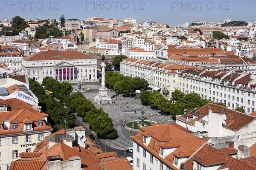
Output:
<instances>
[{"instance_id":1,"label":"clear blue sky above the hilltop city skyline","mask_svg":"<svg viewBox=\"0 0 256 170\"><path fill-rule=\"evenodd\" d=\"M0 0L0 20L101 17L184 24L196 20L256 21L256 0Z\"/></svg>"}]
</instances>

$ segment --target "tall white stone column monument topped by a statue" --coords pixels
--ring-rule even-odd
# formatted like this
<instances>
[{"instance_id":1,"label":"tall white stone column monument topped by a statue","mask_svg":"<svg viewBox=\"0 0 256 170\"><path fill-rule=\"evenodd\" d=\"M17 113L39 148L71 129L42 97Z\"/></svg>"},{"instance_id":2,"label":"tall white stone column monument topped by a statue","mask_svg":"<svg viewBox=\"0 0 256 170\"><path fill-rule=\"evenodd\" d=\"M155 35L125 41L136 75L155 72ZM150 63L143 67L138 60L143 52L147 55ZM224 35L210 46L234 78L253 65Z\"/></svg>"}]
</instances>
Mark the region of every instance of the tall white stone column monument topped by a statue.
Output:
<instances>
[{"instance_id":1,"label":"tall white stone column monument topped by a statue","mask_svg":"<svg viewBox=\"0 0 256 170\"><path fill-rule=\"evenodd\" d=\"M108 89L105 87L105 62L104 62L104 55L102 56L102 85L101 88L99 89L99 94L94 98L94 102L98 105L102 104L108 104L112 103L111 96L108 95Z\"/></svg>"}]
</instances>

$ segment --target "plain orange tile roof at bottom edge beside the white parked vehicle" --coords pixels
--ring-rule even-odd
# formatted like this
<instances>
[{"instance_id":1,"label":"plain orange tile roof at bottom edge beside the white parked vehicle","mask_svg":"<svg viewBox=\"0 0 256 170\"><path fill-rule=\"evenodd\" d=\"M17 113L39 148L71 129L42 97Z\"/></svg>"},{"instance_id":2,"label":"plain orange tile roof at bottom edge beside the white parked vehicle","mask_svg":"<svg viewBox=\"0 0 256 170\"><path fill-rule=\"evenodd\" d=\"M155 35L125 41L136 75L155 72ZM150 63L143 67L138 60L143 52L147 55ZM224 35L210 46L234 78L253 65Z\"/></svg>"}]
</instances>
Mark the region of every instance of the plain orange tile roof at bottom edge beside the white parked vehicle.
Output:
<instances>
[{"instance_id":1,"label":"plain orange tile roof at bottom edge beside the white parked vehicle","mask_svg":"<svg viewBox=\"0 0 256 170\"><path fill-rule=\"evenodd\" d=\"M101 161L101 167L105 170L133 170L131 164L126 158L116 158L108 161Z\"/></svg>"}]
</instances>

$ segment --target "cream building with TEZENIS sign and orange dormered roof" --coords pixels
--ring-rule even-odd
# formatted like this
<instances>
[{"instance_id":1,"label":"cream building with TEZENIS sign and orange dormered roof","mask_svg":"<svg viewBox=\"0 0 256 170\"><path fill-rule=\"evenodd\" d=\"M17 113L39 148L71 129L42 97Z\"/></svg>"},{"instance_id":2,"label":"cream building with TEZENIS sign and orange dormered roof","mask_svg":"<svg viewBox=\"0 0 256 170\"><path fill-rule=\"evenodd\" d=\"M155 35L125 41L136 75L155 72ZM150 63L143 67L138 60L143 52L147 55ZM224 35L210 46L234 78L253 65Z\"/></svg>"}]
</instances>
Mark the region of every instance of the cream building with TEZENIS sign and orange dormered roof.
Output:
<instances>
[{"instance_id":1,"label":"cream building with TEZENIS sign and orange dormered roof","mask_svg":"<svg viewBox=\"0 0 256 170\"><path fill-rule=\"evenodd\" d=\"M6 111L0 114L0 170L19 157L21 152L32 152L38 142L53 130L48 114L38 111Z\"/></svg>"}]
</instances>

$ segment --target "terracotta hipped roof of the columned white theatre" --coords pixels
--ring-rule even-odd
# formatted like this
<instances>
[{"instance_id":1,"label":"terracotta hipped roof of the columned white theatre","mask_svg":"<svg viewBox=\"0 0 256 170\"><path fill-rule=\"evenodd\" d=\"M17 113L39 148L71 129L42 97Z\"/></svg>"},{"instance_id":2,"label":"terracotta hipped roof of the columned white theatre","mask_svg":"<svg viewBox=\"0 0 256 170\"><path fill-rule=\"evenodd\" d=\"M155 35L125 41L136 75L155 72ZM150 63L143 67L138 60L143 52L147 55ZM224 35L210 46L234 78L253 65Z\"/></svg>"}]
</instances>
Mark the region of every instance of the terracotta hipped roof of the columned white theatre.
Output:
<instances>
[{"instance_id":1,"label":"terracotta hipped roof of the columned white theatre","mask_svg":"<svg viewBox=\"0 0 256 170\"><path fill-rule=\"evenodd\" d=\"M78 51L40 51L23 58L26 61L64 60L64 59L94 59Z\"/></svg>"}]
</instances>

